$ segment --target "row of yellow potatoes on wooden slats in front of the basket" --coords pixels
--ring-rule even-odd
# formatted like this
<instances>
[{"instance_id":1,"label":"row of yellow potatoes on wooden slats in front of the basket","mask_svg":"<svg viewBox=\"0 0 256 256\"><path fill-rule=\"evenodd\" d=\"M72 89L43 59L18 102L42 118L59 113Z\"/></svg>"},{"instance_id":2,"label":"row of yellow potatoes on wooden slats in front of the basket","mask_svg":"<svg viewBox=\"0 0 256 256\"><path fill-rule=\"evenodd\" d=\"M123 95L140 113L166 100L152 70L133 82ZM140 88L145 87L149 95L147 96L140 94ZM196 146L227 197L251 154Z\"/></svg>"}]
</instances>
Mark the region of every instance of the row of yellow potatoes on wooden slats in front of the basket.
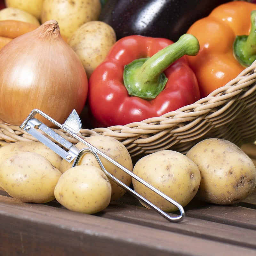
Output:
<instances>
[{"instance_id":1,"label":"row of yellow potatoes on wooden slats in front of the basket","mask_svg":"<svg viewBox=\"0 0 256 256\"><path fill-rule=\"evenodd\" d=\"M252 160L235 144L206 139L186 155L161 150L132 164L131 156L118 140L94 135L85 139L107 156L162 191L183 207L195 196L213 204L235 204L249 196L256 185ZM85 145L78 142L76 147ZM104 157L104 168L125 185L165 212L177 207ZM85 153L76 166L41 142L20 141L0 148L0 187L22 202L46 203L56 199L69 210L96 213L126 192L109 180L95 156ZM143 201L141 204L148 207Z\"/></svg>"}]
</instances>

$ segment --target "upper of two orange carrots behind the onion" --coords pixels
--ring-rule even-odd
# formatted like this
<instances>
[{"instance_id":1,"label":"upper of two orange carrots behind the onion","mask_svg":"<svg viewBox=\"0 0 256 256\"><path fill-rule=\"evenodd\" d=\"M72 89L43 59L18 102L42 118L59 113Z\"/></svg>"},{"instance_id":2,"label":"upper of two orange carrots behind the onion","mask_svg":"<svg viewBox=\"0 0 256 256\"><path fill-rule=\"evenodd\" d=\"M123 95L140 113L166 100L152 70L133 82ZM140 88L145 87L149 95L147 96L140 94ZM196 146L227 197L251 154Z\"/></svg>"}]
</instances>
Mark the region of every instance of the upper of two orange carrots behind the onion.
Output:
<instances>
[{"instance_id":1,"label":"upper of two orange carrots behind the onion","mask_svg":"<svg viewBox=\"0 0 256 256\"><path fill-rule=\"evenodd\" d=\"M15 38L38 27L20 20L0 20L0 36Z\"/></svg>"}]
</instances>

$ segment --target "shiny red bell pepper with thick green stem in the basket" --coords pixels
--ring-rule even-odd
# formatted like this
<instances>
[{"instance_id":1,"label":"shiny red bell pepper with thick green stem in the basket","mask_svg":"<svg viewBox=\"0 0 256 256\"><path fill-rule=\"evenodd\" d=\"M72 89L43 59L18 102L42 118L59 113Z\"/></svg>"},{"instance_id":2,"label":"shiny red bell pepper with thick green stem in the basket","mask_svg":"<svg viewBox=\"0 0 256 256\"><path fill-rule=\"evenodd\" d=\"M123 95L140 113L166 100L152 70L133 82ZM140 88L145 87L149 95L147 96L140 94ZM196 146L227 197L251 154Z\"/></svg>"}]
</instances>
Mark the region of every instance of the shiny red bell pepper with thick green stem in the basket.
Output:
<instances>
[{"instance_id":1,"label":"shiny red bell pepper with thick green stem in the basket","mask_svg":"<svg viewBox=\"0 0 256 256\"><path fill-rule=\"evenodd\" d=\"M194 103L200 97L199 87L184 55L198 51L198 40L189 34L176 43L138 35L118 40L90 76L92 115L108 127L140 122Z\"/></svg>"}]
</instances>

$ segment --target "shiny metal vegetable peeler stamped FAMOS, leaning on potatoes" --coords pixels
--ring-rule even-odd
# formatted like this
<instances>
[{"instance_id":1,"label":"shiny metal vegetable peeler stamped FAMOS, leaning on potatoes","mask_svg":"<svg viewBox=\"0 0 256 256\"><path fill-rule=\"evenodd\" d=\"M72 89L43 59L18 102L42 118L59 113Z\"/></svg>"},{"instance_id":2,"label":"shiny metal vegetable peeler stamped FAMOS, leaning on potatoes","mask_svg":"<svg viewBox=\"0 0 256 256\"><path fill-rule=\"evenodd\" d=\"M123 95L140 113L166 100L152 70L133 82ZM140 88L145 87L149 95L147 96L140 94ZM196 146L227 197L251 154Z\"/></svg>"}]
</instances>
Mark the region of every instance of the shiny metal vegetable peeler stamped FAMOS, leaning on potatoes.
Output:
<instances>
[{"instance_id":1,"label":"shiny metal vegetable peeler stamped FAMOS, leaning on potatoes","mask_svg":"<svg viewBox=\"0 0 256 256\"><path fill-rule=\"evenodd\" d=\"M49 120L52 124L55 124L56 126L60 127L63 131L70 134L73 138L75 138L78 141L81 141L84 143L85 147L83 149L77 148L74 144L69 142L68 140L64 139L61 135L53 131L50 127L39 121L37 118L35 118L36 114L39 114ZM156 212L161 214L164 218L166 218L169 221L178 222L183 219L185 216L185 212L183 207L174 201L172 198L166 196L164 193L150 185L145 180L141 179L139 176L134 174L133 172L126 169L121 164L117 163L115 160L113 160L111 157L107 156L103 152L101 152L99 149L92 146L90 143L85 141L83 138L81 138L78 133L82 129L82 123L79 118L79 115L77 114L76 110L74 109L71 114L68 116L67 120L64 122L64 124L60 124L56 122L54 119L52 119L50 116L46 115L44 112L42 112L39 109L34 109L31 111L29 116L26 118L26 120L20 125L20 129L28 132L30 135L35 137L37 140L41 141L44 145L51 148L54 152L56 152L58 155L60 155L63 159L67 160L69 163L74 159L74 163L72 164L72 167L75 166L81 157L86 153L92 153L98 163L100 164L100 167L102 171L106 174L106 176L116 182L120 187L124 188L126 191L131 193L133 196L135 196L137 199L143 201L145 204L147 204L151 209L154 209ZM40 130L40 131L39 131ZM49 139L49 136L51 139ZM56 143L54 142L56 141ZM59 145L58 145L59 144ZM168 215L166 212L159 209L156 205L149 202L146 198L138 194L136 191L134 191L132 188L125 185L123 182L118 180L115 176L113 176L111 173L109 173L103 166L103 164L100 161L99 155L106 158L111 163L115 164L117 167L122 169L124 172L128 173L132 176L132 178L138 180L151 190L153 190L158 195L162 196L164 199L169 201L170 203L174 204L180 211L180 215L176 217L172 217Z\"/></svg>"}]
</instances>

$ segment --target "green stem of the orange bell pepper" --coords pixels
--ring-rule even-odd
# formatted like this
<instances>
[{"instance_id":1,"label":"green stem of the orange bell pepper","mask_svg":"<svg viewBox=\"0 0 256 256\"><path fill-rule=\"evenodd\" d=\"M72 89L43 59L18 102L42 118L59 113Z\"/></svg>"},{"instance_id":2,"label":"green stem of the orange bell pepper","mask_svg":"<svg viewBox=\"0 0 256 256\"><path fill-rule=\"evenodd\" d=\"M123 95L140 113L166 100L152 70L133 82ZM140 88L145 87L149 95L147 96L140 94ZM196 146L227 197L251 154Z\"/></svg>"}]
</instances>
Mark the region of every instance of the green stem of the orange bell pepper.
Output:
<instances>
[{"instance_id":1,"label":"green stem of the orange bell pepper","mask_svg":"<svg viewBox=\"0 0 256 256\"><path fill-rule=\"evenodd\" d=\"M248 67L256 60L256 11L251 12L251 31L248 36L236 36L234 54L241 65Z\"/></svg>"}]
</instances>

